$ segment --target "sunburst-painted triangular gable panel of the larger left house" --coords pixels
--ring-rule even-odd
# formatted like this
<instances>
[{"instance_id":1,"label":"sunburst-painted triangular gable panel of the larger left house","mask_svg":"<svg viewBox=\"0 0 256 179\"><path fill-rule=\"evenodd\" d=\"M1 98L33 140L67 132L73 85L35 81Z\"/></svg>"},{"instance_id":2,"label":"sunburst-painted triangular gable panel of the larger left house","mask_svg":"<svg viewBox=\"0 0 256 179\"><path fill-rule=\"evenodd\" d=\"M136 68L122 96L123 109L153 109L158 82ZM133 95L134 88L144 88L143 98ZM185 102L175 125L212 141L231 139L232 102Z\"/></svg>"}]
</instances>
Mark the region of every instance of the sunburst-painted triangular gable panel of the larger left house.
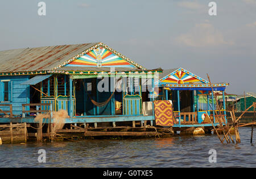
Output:
<instances>
[{"instance_id":1,"label":"sunburst-painted triangular gable panel of the larger left house","mask_svg":"<svg viewBox=\"0 0 256 179\"><path fill-rule=\"evenodd\" d=\"M117 56L108 49L99 46L96 49L68 63L66 66L80 67L135 67L125 59Z\"/></svg>"}]
</instances>

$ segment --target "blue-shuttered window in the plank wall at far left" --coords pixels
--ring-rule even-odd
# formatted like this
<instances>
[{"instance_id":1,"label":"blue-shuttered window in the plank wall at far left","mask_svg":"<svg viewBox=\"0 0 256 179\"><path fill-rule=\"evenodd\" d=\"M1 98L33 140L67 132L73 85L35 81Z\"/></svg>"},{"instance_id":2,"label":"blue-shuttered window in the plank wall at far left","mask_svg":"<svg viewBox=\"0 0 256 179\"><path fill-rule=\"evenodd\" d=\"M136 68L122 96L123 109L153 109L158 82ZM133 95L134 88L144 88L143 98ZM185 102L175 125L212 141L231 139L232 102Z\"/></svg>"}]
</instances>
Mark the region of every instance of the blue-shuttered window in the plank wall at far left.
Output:
<instances>
[{"instance_id":1,"label":"blue-shuttered window in the plank wall at far left","mask_svg":"<svg viewBox=\"0 0 256 179\"><path fill-rule=\"evenodd\" d=\"M13 82L11 80L1 80L0 82L0 101L13 100Z\"/></svg>"}]
</instances>

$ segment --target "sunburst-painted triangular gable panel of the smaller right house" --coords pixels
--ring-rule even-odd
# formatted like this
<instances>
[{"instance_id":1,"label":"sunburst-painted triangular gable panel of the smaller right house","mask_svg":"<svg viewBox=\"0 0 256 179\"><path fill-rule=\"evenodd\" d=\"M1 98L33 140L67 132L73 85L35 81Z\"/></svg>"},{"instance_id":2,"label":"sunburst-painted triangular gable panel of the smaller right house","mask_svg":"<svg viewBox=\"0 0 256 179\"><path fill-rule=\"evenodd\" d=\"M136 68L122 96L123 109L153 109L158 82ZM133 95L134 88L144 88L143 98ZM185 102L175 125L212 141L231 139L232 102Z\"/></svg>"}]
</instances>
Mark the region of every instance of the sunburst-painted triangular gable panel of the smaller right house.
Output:
<instances>
[{"instance_id":1,"label":"sunburst-painted triangular gable panel of the smaller right house","mask_svg":"<svg viewBox=\"0 0 256 179\"><path fill-rule=\"evenodd\" d=\"M207 80L190 73L184 69L177 69L173 73L160 79L160 83L173 83L173 84L191 84L191 83L209 83Z\"/></svg>"}]
</instances>

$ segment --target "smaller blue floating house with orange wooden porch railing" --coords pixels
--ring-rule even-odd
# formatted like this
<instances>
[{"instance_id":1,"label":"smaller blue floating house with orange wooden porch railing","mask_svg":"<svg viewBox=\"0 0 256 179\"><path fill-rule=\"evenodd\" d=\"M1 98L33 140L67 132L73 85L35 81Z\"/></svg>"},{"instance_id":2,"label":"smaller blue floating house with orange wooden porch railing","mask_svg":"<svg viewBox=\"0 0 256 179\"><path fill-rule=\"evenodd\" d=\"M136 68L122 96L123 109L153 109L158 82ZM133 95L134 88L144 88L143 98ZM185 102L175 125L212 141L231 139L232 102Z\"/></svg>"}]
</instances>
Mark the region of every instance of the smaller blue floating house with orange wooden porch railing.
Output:
<instances>
[{"instance_id":1,"label":"smaller blue floating house with orange wooden porch railing","mask_svg":"<svg viewBox=\"0 0 256 179\"><path fill-rule=\"evenodd\" d=\"M162 88L160 90L162 91L162 94L160 94L162 99L172 100L179 126L204 123L206 113L213 118L215 123L215 112L217 110L213 93L222 91L225 99L224 91L229 85L228 83L213 83L212 88L208 80L200 78L183 68L163 70L157 83L159 88ZM207 99L206 105L200 101L201 98ZM222 112L226 118L225 104Z\"/></svg>"}]
</instances>

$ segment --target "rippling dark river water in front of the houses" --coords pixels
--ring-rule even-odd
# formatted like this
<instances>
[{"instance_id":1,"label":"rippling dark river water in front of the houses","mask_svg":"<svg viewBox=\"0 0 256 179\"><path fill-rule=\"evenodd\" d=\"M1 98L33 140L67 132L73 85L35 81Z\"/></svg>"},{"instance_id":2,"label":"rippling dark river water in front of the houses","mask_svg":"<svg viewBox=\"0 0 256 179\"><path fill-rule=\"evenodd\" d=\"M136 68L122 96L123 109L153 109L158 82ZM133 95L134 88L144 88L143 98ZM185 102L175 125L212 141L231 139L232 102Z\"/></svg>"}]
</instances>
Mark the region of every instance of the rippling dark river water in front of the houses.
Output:
<instances>
[{"instance_id":1,"label":"rippling dark river water in front of the houses","mask_svg":"<svg viewBox=\"0 0 256 179\"><path fill-rule=\"evenodd\" d=\"M241 144L221 144L217 135L3 144L0 167L256 167L255 133L253 144L251 127L240 127ZM40 149L46 163L38 162ZM216 163L209 163L210 149Z\"/></svg>"}]
</instances>

